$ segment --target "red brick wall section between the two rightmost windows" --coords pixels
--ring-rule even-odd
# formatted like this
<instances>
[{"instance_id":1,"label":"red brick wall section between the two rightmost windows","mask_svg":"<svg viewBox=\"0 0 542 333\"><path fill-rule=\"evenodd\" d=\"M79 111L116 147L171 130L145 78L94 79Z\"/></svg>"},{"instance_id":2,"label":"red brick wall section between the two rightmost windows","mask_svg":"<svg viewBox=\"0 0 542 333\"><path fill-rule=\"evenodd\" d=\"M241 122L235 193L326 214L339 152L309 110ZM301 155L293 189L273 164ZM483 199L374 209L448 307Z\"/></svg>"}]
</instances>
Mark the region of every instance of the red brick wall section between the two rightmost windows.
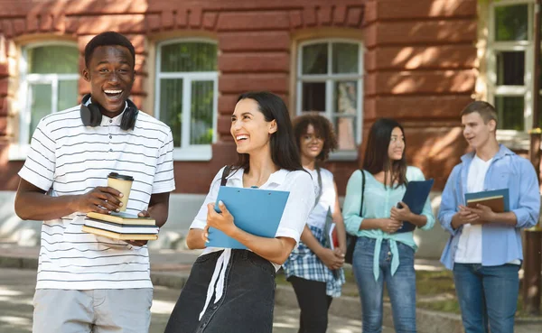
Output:
<instances>
[{"instance_id":1,"label":"red brick wall section between the two rightmost windows","mask_svg":"<svg viewBox=\"0 0 542 333\"><path fill-rule=\"evenodd\" d=\"M408 162L435 178L436 190L466 148L458 115L476 80L476 4L365 2L364 134L377 117L400 121Z\"/></svg>"}]
</instances>

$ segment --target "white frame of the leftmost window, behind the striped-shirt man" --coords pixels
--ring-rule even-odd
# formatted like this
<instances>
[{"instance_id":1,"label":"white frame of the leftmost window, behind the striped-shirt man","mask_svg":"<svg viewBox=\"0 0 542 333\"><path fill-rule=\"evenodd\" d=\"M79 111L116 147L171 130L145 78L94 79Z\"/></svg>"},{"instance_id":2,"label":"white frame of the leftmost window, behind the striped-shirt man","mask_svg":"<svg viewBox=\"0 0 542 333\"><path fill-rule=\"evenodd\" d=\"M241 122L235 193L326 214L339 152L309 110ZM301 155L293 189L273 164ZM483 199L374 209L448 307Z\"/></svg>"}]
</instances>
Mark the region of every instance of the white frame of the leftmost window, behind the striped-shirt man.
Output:
<instances>
[{"instance_id":1,"label":"white frame of the leftmost window, behind the striped-shirt man","mask_svg":"<svg viewBox=\"0 0 542 333\"><path fill-rule=\"evenodd\" d=\"M21 57L19 57L19 77L20 85L17 92L17 100L20 103L19 112L19 134L16 143L10 144L9 160L24 161L30 149L29 140L32 137L30 133L30 122L32 119L32 93L30 88L33 84L51 85L51 113L61 111L58 109L58 94L60 80L79 80L79 72L76 74L36 74L28 73L28 50L43 46L71 46L78 48L77 42L65 41L46 41L36 42L24 45L21 48ZM79 64L78 64L79 65Z\"/></svg>"}]
</instances>

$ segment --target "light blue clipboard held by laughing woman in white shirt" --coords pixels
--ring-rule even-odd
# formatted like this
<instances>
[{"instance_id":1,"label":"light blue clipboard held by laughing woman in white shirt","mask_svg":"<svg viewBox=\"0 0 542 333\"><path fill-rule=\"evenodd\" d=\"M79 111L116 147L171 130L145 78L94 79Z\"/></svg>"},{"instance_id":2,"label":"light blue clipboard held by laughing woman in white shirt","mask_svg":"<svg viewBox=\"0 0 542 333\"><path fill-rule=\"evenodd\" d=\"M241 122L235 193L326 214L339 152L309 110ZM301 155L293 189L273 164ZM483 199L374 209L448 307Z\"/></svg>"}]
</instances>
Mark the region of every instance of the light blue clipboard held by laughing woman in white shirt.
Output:
<instances>
[{"instance_id":1,"label":"light blue clipboard held by laughing woman in white shirt","mask_svg":"<svg viewBox=\"0 0 542 333\"><path fill-rule=\"evenodd\" d=\"M224 202L234 223L249 234L275 238L285 211L290 192L220 186L215 210L220 213L219 201ZM208 247L246 249L237 240L213 227L209 228Z\"/></svg>"}]
</instances>

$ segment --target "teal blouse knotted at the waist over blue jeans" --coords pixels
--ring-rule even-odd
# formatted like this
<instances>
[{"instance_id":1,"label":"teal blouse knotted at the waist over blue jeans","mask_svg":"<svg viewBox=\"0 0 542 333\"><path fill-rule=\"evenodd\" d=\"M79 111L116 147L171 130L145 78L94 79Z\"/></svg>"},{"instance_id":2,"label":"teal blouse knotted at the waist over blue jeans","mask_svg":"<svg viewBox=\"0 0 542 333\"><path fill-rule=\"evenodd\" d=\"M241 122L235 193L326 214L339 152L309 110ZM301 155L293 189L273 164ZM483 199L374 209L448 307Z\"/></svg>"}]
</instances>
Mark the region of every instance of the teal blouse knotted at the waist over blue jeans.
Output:
<instances>
[{"instance_id":1,"label":"teal blouse knotted at the waist over blue jeans","mask_svg":"<svg viewBox=\"0 0 542 333\"><path fill-rule=\"evenodd\" d=\"M406 169L406 180L425 180L424 173L416 167L409 166ZM383 239L388 239L391 254L393 254L391 259L392 275L396 273L397 267L399 266L399 254L396 242L408 245L415 251L417 250L417 245L414 242L413 232L388 234L380 229L360 230L364 218L389 217L391 208L397 206L397 202L403 199L403 195L406 191L405 185L401 185L397 188L391 188L389 186L385 187L384 184L376 180L368 171L365 171L365 181L363 216L360 217L361 171L359 170L354 171L350 176L350 180L348 180L346 197L344 198L344 204L342 205L342 216L344 217L346 231L350 235L365 236L377 240L375 253L373 254L373 273L375 280L378 280L378 254L380 254L380 247ZM435 216L433 215L429 199L425 202L424 210L421 215L427 217L427 223L425 223L425 226L421 227L421 229L431 229L435 225Z\"/></svg>"}]
</instances>

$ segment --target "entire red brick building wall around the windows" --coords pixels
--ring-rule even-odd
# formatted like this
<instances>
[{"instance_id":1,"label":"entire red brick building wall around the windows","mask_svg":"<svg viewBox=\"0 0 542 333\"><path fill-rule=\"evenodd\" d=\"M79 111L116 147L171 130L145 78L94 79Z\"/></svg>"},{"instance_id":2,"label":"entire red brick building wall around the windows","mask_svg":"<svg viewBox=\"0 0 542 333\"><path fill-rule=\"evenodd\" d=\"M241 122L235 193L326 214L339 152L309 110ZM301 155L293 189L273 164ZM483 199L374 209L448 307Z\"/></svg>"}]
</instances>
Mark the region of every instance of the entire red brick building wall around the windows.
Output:
<instances>
[{"instance_id":1,"label":"entire red brick building wall around the windows","mask_svg":"<svg viewBox=\"0 0 542 333\"><path fill-rule=\"evenodd\" d=\"M0 33L6 40L18 42L38 34L59 34L73 38L82 51L98 32L115 30L126 34L135 44L138 75L133 96L138 106L148 98L145 80L154 67L147 63L147 42L174 32L207 32L216 37L220 50L219 142L213 145L211 162L175 163L179 192L206 192L216 171L235 161L229 115L239 93L271 90L291 105L291 48L293 36L300 31L342 28L360 32L367 48L364 134L378 116L394 116L402 121L406 125L409 160L423 167L426 175L438 177L438 186L443 185L464 149L461 143L456 144L457 132L450 130L457 125L456 115L469 101L474 87L475 0L2 3ZM0 61L0 190L15 189L16 171L21 167L21 162L7 161L7 75ZM84 80L79 83L80 94L89 91ZM329 164L341 192L358 164Z\"/></svg>"}]
</instances>

